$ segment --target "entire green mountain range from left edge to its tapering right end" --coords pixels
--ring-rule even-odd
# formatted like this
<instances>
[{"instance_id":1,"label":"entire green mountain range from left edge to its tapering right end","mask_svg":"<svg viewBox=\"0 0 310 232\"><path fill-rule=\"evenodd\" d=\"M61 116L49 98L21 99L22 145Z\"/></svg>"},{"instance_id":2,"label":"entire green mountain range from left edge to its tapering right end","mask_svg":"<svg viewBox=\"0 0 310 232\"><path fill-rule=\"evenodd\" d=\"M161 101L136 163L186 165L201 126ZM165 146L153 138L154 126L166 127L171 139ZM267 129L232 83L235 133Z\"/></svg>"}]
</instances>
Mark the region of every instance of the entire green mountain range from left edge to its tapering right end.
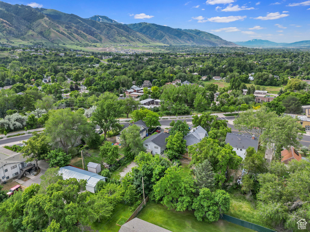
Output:
<instances>
[{"instance_id":1,"label":"entire green mountain range from left edge to its tapering right end","mask_svg":"<svg viewBox=\"0 0 310 232\"><path fill-rule=\"evenodd\" d=\"M43 42L46 45L148 44L238 47L208 32L157 24L121 24L106 16L78 15L0 1L0 42Z\"/></svg>"}]
</instances>

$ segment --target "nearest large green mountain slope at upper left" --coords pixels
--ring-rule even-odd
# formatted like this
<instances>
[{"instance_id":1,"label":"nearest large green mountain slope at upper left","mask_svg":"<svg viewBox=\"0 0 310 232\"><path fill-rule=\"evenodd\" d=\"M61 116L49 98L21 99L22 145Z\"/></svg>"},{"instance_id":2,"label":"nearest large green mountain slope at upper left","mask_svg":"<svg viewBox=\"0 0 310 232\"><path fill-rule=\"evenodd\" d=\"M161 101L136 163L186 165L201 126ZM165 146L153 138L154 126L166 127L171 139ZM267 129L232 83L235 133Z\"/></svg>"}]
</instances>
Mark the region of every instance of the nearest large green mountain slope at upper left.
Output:
<instances>
[{"instance_id":1,"label":"nearest large green mountain slope at upper left","mask_svg":"<svg viewBox=\"0 0 310 232\"><path fill-rule=\"evenodd\" d=\"M44 8L0 1L0 40L51 44L139 43L158 41L123 24L97 22Z\"/></svg>"}]
</instances>

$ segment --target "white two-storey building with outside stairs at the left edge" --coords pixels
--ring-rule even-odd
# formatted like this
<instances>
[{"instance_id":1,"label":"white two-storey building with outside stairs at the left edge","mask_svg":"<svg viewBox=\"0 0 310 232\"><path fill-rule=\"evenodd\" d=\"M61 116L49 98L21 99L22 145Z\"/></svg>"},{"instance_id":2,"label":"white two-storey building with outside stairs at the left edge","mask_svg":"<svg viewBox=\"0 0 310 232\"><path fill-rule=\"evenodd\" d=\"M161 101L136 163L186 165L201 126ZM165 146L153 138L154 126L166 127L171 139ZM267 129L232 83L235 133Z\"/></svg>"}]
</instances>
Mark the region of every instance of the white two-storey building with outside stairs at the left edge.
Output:
<instances>
[{"instance_id":1,"label":"white two-storey building with outside stairs at the left edge","mask_svg":"<svg viewBox=\"0 0 310 232\"><path fill-rule=\"evenodd\" d=\"M20 173L29 174L35 165L26 160L27 157L23 157L23 154L0 147L0 182L16 178Z\"/></svg>"}]
</instances>

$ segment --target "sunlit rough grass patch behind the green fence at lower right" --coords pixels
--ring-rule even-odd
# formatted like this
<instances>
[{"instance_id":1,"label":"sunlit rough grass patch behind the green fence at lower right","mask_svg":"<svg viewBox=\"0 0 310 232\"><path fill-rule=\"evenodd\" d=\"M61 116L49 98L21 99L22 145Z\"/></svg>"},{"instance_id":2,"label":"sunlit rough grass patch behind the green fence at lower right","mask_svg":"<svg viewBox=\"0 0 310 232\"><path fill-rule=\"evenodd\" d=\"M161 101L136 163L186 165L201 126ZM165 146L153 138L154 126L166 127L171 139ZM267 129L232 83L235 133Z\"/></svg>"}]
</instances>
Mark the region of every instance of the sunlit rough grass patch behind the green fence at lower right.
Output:
<instances>
[{"instance_id":1,"label":"sunlit rough grass patch behind the green fence at lower right","mask_svg":"<svg viewBox=\"0 0 310 232\"><path fill-rule=\"evenodd\" d=\"M239 192L230 194L230 210L227 215L269 228L264 221L258 218L254 203L246 200L246 196L240 195Z\"/></svg>"}]
</instances>

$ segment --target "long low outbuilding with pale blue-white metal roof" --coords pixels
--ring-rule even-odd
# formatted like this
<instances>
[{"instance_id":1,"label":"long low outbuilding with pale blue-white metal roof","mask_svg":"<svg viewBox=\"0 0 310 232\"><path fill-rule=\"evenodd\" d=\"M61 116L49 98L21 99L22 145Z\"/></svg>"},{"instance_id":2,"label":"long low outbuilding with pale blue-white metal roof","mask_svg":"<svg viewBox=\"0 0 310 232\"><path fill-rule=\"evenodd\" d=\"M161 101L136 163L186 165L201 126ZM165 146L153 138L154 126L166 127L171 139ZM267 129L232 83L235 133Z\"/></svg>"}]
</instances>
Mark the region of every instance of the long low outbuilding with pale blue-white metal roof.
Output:
<instances>
[{"instance_id":1,"label":"long low outbuilding with pale blue-white metal roof","mask_svg":"<svg viewBox=\"0 0 310 232\"><path fill-rule=\"evenodd\" d=\"M77 180L86 180L86 190L92 193L95 193L97 190L97 184L106 180L106 177L100 176L96 173L89 172L74 166L65 166L61 167L58 171L59 174L62 174L64 180L70 178L76 178Z\"/></svg>"}]
</instances>

